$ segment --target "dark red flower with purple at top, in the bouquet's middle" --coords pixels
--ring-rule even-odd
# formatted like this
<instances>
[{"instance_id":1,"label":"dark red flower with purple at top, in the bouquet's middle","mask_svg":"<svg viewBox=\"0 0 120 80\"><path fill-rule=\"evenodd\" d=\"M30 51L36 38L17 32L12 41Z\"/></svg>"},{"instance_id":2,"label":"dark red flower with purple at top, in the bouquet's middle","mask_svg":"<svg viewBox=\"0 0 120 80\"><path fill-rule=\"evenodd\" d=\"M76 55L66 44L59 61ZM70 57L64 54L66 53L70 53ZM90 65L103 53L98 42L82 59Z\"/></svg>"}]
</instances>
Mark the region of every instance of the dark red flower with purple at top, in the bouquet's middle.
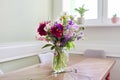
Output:
<instances>
[{"instance_id":1,"label":"dark red flower with purple at top, in the bouquet's middle","mask_svg":"<svg viewBox=\"0 0 120 80\"><path fill-rule=\"evenodd\" d=\"M51 34L55 37L61 38L63 35L63 26L61 24L55 24L51 29Z\"/></svg>"}]
</instances>

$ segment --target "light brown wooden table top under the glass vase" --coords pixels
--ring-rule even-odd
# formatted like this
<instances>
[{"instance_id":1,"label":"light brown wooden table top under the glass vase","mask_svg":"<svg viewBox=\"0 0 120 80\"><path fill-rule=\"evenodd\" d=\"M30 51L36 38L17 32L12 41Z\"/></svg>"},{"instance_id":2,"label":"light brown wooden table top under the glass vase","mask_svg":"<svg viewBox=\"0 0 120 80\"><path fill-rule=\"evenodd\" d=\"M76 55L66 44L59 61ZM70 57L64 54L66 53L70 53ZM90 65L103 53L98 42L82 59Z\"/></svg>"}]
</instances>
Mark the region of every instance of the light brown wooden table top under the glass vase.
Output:
<instances>
[{"instance_id":1,"label":"light brown wooden table top under the glass vase","mask_svg":"<svg viewBox=\"0 0 120 80\"><path fill-rule=\"evenodd\" d=\"M66 73L53 74L51 65L36 64L0 76L0 80L103 80L115 60L86 58L71 54Z\"/></svg>"}]
</instances>

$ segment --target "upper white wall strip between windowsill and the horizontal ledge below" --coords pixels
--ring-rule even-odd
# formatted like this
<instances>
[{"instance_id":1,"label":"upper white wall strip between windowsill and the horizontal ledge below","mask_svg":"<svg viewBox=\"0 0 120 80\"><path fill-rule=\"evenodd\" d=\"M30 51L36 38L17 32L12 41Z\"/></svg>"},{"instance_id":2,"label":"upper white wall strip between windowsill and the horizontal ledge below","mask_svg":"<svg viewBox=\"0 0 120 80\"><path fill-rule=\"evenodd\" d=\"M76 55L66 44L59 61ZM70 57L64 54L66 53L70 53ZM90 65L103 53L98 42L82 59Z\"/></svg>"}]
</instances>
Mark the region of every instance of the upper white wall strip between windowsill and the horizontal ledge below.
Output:
<instances>
[{"instance_id":1,"label":"upper white wall strip between windowsill and the horizontal ledge below","mask_svg":"<svg viewBox=\"0 0 120 80\"><path fill-rule=\"evenodd\" d=\"M89 41L120 41L120 26L102 26L85 28L85 36Z\"/></svg>"}]
</instances>

